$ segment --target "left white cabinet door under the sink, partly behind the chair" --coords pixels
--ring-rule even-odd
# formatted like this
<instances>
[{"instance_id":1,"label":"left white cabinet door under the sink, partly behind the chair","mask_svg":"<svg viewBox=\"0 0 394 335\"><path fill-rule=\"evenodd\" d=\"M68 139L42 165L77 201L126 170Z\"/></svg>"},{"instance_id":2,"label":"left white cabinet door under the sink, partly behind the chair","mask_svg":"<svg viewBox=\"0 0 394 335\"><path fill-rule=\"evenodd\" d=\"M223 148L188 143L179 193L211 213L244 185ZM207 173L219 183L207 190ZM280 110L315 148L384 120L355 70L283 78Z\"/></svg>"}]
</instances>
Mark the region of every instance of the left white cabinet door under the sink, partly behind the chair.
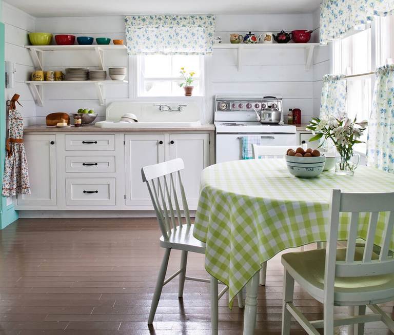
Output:
<instances>
[{"instance_id":1,"label":"left white cabinet door under the sink, partly behind the chair","mask_svg":"<svg viewBox=\"0 0 394 335\"><path fill-rule=\"evenodd\" d=\"M164 162L164 134L125 135L126 205L152 207L141 168Z\"/></svg>"}]
</instances>

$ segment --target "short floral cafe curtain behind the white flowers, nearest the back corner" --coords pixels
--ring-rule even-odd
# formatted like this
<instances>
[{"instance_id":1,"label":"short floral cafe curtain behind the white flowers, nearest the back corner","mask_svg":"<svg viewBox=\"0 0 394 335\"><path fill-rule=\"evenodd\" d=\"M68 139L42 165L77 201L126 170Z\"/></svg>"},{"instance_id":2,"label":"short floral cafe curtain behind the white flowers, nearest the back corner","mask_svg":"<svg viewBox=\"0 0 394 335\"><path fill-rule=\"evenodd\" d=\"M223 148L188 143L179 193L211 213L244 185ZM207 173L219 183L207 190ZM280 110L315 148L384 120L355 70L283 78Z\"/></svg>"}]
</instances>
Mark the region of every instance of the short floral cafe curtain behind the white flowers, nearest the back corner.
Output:
<instances>
[{"instance_id":1,"label":"short floral cafe curtain behind the white flowers, nearest the back corner","mask_svg":"<svg viewBox=\"0 0 394 335\"><path fill-rule=\"evenodd\" d=\"M320 117L340 116L346 113L347 82L342 74L326 74L320 102Z\"/></svg>"}]
</instances>

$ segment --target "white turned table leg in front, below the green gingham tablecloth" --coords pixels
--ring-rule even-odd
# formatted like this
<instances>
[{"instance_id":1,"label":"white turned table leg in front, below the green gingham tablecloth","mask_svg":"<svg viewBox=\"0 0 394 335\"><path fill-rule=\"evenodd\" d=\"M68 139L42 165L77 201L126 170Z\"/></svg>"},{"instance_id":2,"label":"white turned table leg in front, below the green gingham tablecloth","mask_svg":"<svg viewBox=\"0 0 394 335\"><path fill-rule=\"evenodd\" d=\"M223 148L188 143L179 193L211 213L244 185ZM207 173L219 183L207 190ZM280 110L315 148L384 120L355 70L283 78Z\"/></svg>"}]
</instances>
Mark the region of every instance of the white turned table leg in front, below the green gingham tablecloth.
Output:
<instances>
[{"instance_id":1,"label":"white turned table leg in front, below the green gingham tablecloth","mask_svg":"<svg viewBox=\"0 0 394 335\"><path fill-rule=\"evenodd\" d=\"M246 300L244 311L244 335L252 335L256 326L257 291L260 273L256 272L246 285Z\"/></svg>"}]
</instances>

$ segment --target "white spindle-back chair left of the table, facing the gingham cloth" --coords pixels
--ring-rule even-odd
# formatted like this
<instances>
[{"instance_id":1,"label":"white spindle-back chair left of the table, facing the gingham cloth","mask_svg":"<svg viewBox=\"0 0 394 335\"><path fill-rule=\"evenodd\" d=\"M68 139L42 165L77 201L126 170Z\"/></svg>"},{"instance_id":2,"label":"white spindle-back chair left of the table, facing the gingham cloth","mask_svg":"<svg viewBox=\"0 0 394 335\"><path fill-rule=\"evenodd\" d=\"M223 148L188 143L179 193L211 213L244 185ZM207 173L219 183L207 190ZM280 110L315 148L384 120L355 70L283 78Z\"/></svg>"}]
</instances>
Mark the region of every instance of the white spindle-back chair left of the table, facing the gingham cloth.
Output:
<instances>
[{"instance_id":1,"label":"white spindle-back chair left of the table, facing the gingham cloth","mask_svg":"<svg viewBox=\"0 0 394 335\"><path fill-rule=\"evenodd\" d=\"M218 294L217 279L211 277L209 280L188 277L186 275L187 253L191 251L205 254L205 243L193 237L194 225L191 224L190 221L189 208L181 179L181 170L183 169L183 160L178 158L164 163L145 166L141 171L142 180L148 187L157 222L162 232L160 246L166 249L159 276L157 277L148 324L151 325L153 323L154 314L157 304L159 304L163 286L179 275L179 298L183 296L185 280L211 283L211 324L212 334L214 334L218 332L218 301L227 291L228 287L226 286ZM178 181L179 188L176 187L176 181ZM177 194L177 190L181 193L180 198ZM183 205L186 223L182 223L180 200L182 200L181 204ZM182 250L181 266L178 271L165 279L171 249ZM240 307L243 307L242 293L238 295L238 304Z\"/></svg>"}]
</instances>

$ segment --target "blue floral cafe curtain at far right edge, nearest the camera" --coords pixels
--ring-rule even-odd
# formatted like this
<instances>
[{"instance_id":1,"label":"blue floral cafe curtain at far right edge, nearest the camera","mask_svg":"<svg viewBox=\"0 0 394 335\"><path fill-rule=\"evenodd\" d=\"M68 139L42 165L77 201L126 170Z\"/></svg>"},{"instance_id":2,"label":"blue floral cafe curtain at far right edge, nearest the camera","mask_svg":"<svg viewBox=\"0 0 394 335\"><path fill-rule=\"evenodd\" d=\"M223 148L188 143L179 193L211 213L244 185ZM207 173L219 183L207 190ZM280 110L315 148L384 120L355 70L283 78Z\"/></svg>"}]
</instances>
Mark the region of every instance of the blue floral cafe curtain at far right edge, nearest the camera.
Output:
<instances>
[{"instance_id":1,"label":"blue floral cafe curtain at far right edge, nearest the camera","mask_svg":"<svg viewBox=\"0 0 394 335\"><path fill-rule=\"evenodd\" d=\"M394 173L394 65L385 65L376 71L367 165Z\"/></svg>"}]
</instances>

